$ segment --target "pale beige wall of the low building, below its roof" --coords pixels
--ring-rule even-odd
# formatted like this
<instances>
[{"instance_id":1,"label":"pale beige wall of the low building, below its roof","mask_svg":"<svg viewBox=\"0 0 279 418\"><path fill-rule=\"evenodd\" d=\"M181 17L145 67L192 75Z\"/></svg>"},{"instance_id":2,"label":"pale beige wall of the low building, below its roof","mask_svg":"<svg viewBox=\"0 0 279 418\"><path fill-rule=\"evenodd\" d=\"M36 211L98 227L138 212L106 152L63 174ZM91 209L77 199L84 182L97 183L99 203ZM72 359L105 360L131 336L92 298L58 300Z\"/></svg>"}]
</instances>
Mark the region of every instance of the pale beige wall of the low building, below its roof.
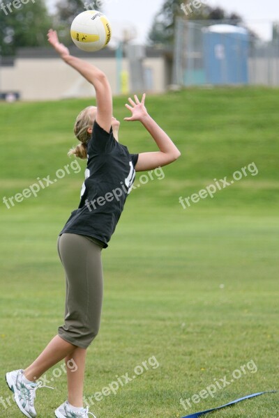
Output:
<instances>
[{"instance_id":1,"label":"pale beige wall of the low building, below its roof","mask_svg":"<svg viewBox=\"0 0 279 418\"><path fill-rule=\"evenodd\" d=\"M86 61L103 70L110 80L112 93L116 95L117 66L114 56L100 56ZM166 64L164 56L148 57L143 60L149 74L149 91L163 93L166 90ZM123 70L129 72L128 59L123 58ZM150 79L152 85L150 86ZM13 66L0 68L1 91L17 91L22 100L59 100L69 97L91 97L93 87L73 68L58 57L18 56ZM130 88L129 88L130 90ZM134 93L129 91L129 93Z\"/></svg>"}]
</instances>

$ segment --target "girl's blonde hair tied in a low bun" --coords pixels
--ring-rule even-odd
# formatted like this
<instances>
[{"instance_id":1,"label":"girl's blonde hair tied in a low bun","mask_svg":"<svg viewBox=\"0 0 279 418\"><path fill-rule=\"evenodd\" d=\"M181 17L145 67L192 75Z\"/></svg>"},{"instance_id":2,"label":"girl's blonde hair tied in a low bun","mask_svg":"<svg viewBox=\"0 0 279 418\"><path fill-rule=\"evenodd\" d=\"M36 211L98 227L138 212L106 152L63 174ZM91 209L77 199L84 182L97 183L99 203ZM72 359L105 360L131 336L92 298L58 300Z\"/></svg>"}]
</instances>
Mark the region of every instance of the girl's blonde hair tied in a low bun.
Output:
<instances>
[{"instance_id":1,"label":"girl's blonde hair tied in a low bun","mask_svg":"<svg viewBox=\"0 0 279 418\"><path fill-rule=\"evenodd\" d=\"M86 145L91 139L91 134L88 132L88 128L92 127L96 114L91 110L96 109L94 106L89 106L83 109L75 120L74 132L77 139L82 143L74 148L71 148L68 152L68 156L75 155L77 158L86 160L87 148Z\"/></svg>"}]
</instances>

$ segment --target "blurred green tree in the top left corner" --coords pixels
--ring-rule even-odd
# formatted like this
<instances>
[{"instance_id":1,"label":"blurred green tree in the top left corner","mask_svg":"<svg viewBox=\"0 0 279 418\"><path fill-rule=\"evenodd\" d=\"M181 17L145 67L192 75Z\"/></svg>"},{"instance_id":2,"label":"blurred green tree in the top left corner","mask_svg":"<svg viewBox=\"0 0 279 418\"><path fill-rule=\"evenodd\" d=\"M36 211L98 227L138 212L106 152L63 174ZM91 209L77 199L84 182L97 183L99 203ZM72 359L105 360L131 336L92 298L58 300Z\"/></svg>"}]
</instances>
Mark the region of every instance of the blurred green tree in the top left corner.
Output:
<instances>
[{"instance_id":1,"label":"blurred green tree in the top left corner","mask_svg":"<svg viewBox=\"0 0 279 418\"><path fill-rule=\"evenodd\" d=\"M18 47L43 47L47 45L47 30L50 28L51 22L45 0L21 3L20 8L13 7L13 3L1 2L1 55L13 56Z\"/></svg>"}]
</instances>

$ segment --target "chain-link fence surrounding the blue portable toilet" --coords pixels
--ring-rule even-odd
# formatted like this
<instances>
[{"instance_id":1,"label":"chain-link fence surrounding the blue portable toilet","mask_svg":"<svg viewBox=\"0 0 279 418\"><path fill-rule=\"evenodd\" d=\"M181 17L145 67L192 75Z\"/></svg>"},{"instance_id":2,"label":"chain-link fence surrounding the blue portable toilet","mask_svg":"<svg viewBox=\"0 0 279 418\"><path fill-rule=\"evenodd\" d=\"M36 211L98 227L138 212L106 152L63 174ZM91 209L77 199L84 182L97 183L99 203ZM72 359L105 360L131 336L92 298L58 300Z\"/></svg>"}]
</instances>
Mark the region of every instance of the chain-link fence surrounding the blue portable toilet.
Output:
<instances>
[{"instance_id":1,"label":"chain-link fence surrounding the blue portable toilet","mask_svg":"<svg viewBox=\"0 0 279 418\"><path fill-rule=\"evenodd\" d=\"M279 40L264 42L246 28L227 22L179 18L172 82L279 86Z\"/></svg>"}]
</instances>

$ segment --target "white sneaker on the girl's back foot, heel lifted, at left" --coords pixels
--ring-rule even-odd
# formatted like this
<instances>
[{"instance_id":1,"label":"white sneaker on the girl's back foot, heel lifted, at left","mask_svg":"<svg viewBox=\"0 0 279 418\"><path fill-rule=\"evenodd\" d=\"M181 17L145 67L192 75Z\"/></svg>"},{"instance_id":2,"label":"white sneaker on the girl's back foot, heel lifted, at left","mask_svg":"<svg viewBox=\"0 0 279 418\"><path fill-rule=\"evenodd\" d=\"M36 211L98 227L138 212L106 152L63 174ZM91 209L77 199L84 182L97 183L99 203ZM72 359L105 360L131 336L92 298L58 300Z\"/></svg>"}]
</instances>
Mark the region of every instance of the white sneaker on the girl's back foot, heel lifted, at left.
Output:
<instances>
[{"instance_id":1,"label":"white sneaker on the girl's back foot, heel lifted, at left","mask_svg":"<svg viewBox=\"0 0 279 418\"><path fill-rule=\"evenodd\" d=\"M23 370L14 370L6 373L6 382L10 390L15 395L15 402L18 408L26 417L35 418L37 416L34 408L34 399L38 387L50 387L43 385L43 382L24 383L22 382ZM54 389L50 387L50 389Z\"/></svg>"}]
</instances>

